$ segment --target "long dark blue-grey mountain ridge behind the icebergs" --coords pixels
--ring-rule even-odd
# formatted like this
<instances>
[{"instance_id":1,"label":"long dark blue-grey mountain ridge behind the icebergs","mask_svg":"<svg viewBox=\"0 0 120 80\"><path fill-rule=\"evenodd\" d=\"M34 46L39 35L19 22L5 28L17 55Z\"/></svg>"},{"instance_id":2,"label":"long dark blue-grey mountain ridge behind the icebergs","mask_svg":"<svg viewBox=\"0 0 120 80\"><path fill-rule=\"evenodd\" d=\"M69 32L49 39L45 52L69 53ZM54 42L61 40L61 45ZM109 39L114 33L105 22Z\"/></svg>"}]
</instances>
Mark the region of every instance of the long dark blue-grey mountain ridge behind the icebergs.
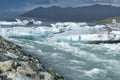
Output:
<instances>
[{"instance_id":1,"label":"long dark blue-grey mountain ridge behind the icebergs","mask_svg":"<svg viewBox=\"0 0 120 80\"><path fill-rule=\"evenodd\" d=\"M110 5L93 5L85 7L61 8L52 6L48 8L38 7L28 11L21 17L40 18L48 21L98 21L110 17L120 16L120 7Z\"/></svg>"}]
</instances>

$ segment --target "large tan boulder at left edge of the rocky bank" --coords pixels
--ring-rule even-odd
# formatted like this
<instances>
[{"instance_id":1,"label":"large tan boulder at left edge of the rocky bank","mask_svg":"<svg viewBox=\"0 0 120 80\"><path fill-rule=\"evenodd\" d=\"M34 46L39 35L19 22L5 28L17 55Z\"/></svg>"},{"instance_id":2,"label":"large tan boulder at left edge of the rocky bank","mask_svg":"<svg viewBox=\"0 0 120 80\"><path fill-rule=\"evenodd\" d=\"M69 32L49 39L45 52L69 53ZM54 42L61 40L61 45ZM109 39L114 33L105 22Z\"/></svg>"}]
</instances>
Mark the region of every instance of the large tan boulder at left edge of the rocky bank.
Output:
<instances>
[{"instance_id":1,"label":"large tan boulder at left edge of the rocky bank","mask_svg":"<svg viewBox=\"0 0 120 80\"><path fill-rule=\"evenodd\" d=\"M0 62L0 70L2 72L12 70L12 67L13 67L13 61Z\"/></svg>"}]
</instances>

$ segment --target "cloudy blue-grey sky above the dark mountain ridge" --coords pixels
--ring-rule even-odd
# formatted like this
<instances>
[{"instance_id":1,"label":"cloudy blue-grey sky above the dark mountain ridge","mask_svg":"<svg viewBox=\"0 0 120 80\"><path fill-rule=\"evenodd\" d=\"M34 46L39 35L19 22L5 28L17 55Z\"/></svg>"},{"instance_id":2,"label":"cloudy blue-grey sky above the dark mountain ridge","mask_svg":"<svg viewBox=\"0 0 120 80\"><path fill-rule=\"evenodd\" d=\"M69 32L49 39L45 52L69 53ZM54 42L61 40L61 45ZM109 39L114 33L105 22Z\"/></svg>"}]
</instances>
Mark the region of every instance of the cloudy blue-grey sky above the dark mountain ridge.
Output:
<instances>
[{"instance_id":1,"label":"cloudy blue-grey sky above the dark mountain ridge","mask_svg":"<svg viewBox=\"0 0 120 80\"><path fill-rule=\"evenodd\" d=\"M120 0L0 0L0 18L19 15L39 6L79 7L98 3L119 5Z\"/></svg>"}]
</instances>

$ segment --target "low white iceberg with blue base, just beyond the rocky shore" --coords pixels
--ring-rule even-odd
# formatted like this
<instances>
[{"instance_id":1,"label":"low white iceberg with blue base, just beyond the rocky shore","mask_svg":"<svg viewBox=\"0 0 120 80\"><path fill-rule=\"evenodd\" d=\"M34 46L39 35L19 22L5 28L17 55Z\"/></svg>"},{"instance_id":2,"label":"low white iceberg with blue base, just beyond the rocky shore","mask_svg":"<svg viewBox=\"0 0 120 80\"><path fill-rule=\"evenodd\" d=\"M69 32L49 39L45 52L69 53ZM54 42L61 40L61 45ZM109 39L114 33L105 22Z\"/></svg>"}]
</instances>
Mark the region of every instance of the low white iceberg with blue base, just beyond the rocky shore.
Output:
<instances>
[{"instance_id":1,"label":"low white iceberg with blue base, just beyond the rocky shore","mask_svg":"<svg viewBox=\"0 0 120 80\"><path fill-rule=\"evenodd\" d=\"M7 27L0 28L0 35L7 38L42 40L49 36L49 27Z\"/></svg>"}]
</instances>

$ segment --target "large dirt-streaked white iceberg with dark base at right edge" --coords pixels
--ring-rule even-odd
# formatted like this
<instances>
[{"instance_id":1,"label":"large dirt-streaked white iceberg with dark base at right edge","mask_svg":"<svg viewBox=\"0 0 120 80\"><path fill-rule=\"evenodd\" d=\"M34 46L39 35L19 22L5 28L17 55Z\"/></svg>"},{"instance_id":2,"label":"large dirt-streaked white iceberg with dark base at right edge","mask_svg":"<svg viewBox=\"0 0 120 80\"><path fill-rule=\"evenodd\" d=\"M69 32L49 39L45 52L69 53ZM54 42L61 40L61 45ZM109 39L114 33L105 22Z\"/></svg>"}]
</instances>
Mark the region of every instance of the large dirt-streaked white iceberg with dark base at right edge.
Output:
<instances>
[{"instance_id":1,"label":"large dirt-streaked white iceberg with dark base at right edge","mask_svg":"<svg viewBox=\"0 0 120 80\"><path fill-rule=\"evenodd\" d=\"M120 42L120 28L112 29L105 25L77 27L56 34L54 40L57 42L117 43Z\"/></svg>"}]
</instances>

